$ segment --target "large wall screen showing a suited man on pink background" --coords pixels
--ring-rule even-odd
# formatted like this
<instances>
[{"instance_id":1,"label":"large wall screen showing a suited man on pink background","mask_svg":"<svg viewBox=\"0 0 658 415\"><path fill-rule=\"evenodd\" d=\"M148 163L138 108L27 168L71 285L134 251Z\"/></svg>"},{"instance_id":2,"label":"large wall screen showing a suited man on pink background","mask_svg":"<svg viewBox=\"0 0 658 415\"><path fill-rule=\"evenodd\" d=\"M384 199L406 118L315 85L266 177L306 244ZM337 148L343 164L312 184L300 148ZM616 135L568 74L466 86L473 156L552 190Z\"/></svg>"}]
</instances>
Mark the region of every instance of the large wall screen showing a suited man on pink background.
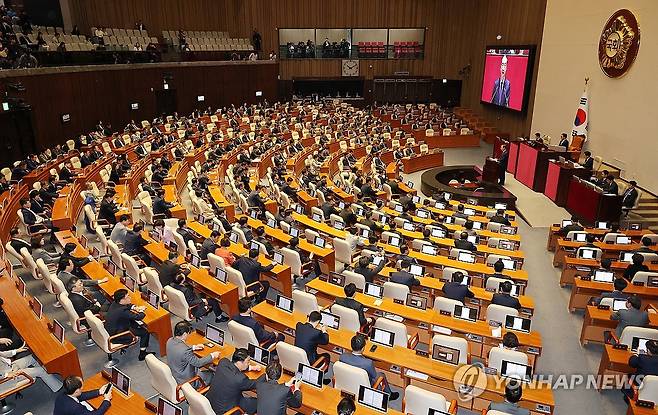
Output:
<instances>
[{"instance_id":1,"label":"large wall screen showing a suited man on pink background","mask_svg":"<svg viewBox=\"0 0 658 415\"><path fill-rule=\"evenodd\" d=\"M487 47L480 101L525 111L533 57L532 46Z\"/></svg>"}]
</instances>

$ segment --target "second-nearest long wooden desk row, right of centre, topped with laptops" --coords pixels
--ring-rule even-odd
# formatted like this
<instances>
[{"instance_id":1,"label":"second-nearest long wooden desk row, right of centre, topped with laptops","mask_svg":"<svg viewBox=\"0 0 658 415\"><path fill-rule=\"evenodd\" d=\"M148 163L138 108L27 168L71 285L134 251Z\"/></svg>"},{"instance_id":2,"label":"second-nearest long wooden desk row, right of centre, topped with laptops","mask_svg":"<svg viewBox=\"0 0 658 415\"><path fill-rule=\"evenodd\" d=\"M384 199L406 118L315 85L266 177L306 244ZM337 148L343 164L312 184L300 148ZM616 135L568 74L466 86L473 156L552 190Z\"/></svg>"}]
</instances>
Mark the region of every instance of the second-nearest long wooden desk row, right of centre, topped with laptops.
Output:
<instances>
[{"instance_id":1,"label":"second-nearest long wooden desk row, right of centre, topped with laptops","mask_svg":"<svg viewBox=\"0 0 658 415\"><path fill-rule=\"evenodd\" d=\"M330 306L336 298L344 297L343 287L316 278L306 284L306 291L315 295L320 306ZM498 347L501 338L493 337L489 323L484 320L475 322L460 320L451 316L439 314L434 309L420 310L402 304L396 304L390 298L381 299L357 293L354 297L368 308L367 314L378 318L383 313L398 315L405 320L409 334L418 334L419 341L429 344L432 335L437 332L434 326L440 326L452 331L453 335L465 338L470 345L472 356L486 358L492 347ZM505 334L505 329L503 333ZM541 335L538 332L514 332L519 338L519 350L528 354L531 365L534 366L536 357L541 354Z\"/></svg>"}]
</instances>

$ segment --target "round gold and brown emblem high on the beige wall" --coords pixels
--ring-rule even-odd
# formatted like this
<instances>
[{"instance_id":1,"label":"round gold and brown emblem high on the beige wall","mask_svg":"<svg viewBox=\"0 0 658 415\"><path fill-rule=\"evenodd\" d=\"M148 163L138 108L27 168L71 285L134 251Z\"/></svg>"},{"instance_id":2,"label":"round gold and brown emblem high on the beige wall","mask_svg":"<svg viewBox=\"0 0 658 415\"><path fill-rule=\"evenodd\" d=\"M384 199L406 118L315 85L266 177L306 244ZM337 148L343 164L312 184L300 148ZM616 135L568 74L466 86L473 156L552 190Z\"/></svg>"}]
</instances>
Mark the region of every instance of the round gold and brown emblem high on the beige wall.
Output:
<instances>
[{"instance_id":1,"label":"round gold and brown emblem high on the beige wall","mask_svg":"<svg viewBox=\"0 0 658 415\"><path fill-rule=\"evenodd\" d=\"M599 39L599 65L611 78L624 75L640 49L640 27L627 9L617 10L603 27Z\"/></svg>"}]
</instances>

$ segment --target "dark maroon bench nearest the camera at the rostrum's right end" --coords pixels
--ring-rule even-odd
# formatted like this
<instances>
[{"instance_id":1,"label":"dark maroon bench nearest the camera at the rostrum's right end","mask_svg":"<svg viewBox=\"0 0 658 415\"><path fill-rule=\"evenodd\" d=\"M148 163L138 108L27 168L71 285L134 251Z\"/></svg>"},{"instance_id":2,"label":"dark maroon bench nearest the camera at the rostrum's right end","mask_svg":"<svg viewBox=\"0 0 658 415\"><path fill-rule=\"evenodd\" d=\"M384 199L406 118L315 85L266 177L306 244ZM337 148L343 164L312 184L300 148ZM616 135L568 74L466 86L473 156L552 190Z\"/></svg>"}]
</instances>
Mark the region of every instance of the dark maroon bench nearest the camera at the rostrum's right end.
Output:
<instances>
[{"instance_id":1,"label":"dark maroon bench nearest the camera at the rostrum's right end","mask_svg":"<svg viewBox=\"0 0 658 415\"><path fill-rule=\"evenodd\" d=\"M567 211L587 224L616 222L621 216L622 196L605 194L594 184L572 177L567 196Z\"/></svg>"}]
</instances>

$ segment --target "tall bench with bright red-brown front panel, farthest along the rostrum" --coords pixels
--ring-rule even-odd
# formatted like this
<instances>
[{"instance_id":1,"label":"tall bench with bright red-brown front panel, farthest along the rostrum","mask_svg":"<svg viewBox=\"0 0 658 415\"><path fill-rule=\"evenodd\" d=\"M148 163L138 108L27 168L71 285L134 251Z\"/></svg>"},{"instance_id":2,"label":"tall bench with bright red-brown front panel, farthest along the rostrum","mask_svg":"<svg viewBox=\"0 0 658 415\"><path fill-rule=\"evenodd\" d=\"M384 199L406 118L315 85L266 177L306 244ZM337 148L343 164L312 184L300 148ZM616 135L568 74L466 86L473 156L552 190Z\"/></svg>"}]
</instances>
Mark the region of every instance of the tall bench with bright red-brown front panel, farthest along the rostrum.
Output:
<instances>
[{"instance_id":1,"label":"tall bench with bright red-brown front panel, farthest along the rostrum","mask_svg":"<svg viewBox=\"0 0 658 415\"><path fill-rule=\"evenodd\" d=\"M543 192L546 188L548 160L557 159L563 154L563 151L550 150L542 144L524 141L519 144L514 177L535 192Z\"/></svg>"}]
</instances>

